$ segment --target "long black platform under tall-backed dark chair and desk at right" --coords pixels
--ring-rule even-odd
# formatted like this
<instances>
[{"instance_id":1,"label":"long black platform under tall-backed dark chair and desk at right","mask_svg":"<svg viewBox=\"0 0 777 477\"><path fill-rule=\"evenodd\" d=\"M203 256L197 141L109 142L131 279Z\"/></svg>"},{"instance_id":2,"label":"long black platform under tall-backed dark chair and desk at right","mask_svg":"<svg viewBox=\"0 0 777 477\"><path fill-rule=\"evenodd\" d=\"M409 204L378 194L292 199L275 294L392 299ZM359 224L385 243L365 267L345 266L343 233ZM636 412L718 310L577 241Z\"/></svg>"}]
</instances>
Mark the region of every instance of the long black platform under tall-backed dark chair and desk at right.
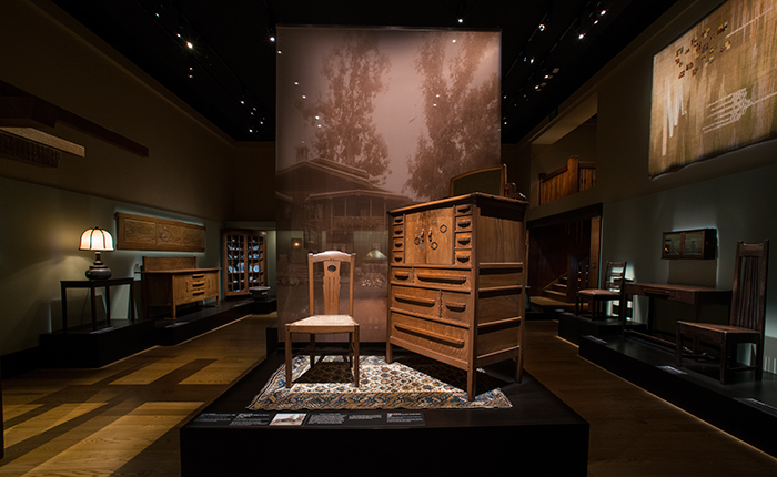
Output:
<instances>
[{"instance_id":1,"label":"long black platform under tall-backed dark chair and desk at right","mask_svg":"<svg viewBox=\"0 0 777 477\"><path fill-rule=\"evenodd\" d=\"M579 355L777 457L777 375L756 382L755 372L737 372L722 385L717 363L676 367L674 348L629 336L583 336Z\"/></svg>"}]
</instances>

